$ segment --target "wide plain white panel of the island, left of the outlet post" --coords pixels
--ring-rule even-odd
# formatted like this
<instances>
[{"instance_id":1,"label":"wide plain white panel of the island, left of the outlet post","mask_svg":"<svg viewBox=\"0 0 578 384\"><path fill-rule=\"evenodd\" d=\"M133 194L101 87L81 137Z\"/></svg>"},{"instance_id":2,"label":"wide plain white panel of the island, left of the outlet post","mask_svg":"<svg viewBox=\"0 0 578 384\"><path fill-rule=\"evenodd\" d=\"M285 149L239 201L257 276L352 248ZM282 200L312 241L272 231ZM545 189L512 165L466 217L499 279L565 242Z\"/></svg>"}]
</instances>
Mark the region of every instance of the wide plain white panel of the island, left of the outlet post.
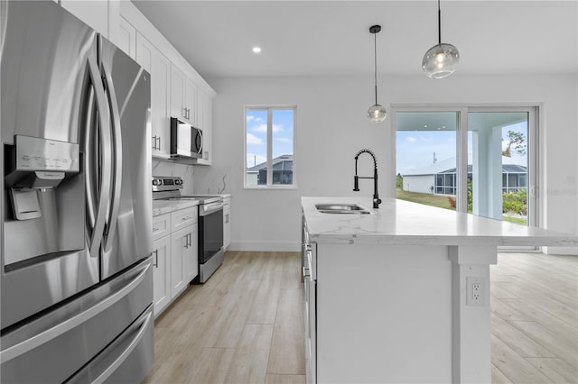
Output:
<instances>
[{"instance_id":1,"label":"wide plain white panel of the island, left of the outlet post","mask_svg":"<svg viewBox=\"0 0 578 384\"><path fill-rule=\"evenodd\" d=\"M450 381L448 247L318 244L317 382Z\"/></svg>"}]
</instances>

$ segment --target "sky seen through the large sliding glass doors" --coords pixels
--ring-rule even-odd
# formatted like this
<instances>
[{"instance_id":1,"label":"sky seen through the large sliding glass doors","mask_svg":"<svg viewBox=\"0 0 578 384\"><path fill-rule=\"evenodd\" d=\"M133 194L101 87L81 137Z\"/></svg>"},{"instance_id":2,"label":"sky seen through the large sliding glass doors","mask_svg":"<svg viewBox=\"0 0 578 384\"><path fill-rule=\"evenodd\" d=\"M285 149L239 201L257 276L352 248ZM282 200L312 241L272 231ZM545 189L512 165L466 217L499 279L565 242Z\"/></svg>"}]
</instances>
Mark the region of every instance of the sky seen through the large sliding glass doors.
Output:
<instances>
[{"instance_id":1,"label":"sky seen through the large sliding glass doors","mask_svg":"<svg viewBox=\"0 0 578 384\"><path fill-rule=\"evenodd\" d=\"M502 129L502 150L508 145L508 131L523 133L527 137L527 122L508 125ZM468 133L468 151L471 152L471 132ZM411 173L436 162L456 157L455 131L397 131L396 174ZM527 165L527 155L511 151L513 163Z\"/></svg>"}]
</instances>

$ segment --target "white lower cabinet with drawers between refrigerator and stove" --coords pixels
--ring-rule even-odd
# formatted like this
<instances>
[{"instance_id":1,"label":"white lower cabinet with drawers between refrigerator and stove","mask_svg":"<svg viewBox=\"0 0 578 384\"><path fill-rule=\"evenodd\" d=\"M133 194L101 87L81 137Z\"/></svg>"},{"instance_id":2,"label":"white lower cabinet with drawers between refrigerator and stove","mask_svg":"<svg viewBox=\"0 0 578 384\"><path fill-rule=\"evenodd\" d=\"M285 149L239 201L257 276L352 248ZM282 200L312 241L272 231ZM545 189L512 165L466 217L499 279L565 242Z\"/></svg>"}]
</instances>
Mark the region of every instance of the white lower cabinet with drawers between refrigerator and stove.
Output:
<instances>
[{"instance_id":1,"label":"white lower cabinet with drawers between refrigerator and stove","mask_svg":"<svg viewBox=\"0 0 578 384\"><path fill-rule=\"evenodd\" d=\"M153 218L154 316L199 274L197 206Z\"/></svg>"}]
</instances>

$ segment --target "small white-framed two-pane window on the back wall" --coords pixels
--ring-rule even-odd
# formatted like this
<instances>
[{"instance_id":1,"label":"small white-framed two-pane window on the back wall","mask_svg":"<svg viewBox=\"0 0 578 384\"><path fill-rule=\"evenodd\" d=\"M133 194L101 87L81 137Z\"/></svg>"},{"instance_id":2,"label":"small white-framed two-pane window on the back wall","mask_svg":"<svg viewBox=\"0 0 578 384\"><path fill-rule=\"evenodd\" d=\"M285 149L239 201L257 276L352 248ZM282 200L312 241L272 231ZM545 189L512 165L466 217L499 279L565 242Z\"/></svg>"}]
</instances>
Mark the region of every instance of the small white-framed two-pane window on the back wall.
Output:
<instances>
[{"instance_id":1,"label":"small white-framed two-pane window on the back wall","mask_svg":"<svg viewBox=\"0 0 578 384\"><path fill-rule=\"evenodd\" d=\"M294 187L294 106L245 108L245 187Z\"/></svg>"}]
</instances>

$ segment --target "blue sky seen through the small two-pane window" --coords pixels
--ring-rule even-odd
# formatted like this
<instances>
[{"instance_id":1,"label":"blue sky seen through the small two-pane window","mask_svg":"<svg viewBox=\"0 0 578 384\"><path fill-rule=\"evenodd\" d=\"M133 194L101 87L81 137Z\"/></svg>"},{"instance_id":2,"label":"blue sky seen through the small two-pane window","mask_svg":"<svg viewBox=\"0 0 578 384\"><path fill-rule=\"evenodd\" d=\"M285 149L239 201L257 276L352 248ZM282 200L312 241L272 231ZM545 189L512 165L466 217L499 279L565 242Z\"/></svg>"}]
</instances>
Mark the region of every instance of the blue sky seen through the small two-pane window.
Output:
<instances>
[{"instance_id":1,"label":"blue sky seen through the small two-pane window","mask_svg":"<svg viewBox=\"0 0 578 384\"><path fill-rule=\"evenodd\" d=\"M247 168L267 160L267 111L247 110ZM275 109L272 112L272 159L293 154L294 110Z\"/></svg>"}]
</instances>

